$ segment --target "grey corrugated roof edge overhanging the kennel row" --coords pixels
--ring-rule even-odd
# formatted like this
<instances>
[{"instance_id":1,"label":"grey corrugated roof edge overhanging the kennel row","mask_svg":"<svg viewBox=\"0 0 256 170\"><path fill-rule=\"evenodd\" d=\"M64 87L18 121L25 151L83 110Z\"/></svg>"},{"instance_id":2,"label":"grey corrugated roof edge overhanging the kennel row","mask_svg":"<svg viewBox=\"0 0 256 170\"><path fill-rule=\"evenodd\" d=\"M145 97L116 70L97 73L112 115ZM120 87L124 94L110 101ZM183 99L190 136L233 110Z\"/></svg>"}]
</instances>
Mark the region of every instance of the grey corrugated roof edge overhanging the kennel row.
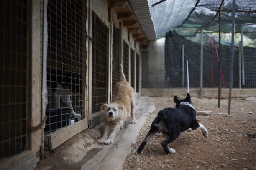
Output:
<instances>
[{"instance_id":1,"label":"grey corrugated roof edge overhanging the kennel row","mask_svg":"<svg viewBox=\"0 0 256 170\"><path fill-rule=\"evenodd\" d=\"M156 31L147 0L128 0L148 40L156 40Z\"/></svg>"}]
</instances>

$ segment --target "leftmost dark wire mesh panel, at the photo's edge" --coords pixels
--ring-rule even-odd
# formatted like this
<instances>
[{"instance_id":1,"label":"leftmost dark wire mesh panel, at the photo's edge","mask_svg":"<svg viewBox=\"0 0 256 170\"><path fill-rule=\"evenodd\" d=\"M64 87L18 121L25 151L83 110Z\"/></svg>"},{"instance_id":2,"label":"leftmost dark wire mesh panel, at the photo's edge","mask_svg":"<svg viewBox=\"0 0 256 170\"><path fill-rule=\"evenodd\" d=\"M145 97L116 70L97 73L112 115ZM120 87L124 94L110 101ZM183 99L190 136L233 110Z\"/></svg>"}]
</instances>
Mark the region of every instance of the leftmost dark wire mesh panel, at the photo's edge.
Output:
<instances>
[{"instance_id":1,"label":"leftmost dark wire mesh panel, at the photo's edge","mask_svg":"<svg viewBox=\"0 0 256 170\"><path fill-rule=\"evenodd\" d=\"M29 1L0 1L0 160L28 150Z\"/></svg>"}]
</instances>

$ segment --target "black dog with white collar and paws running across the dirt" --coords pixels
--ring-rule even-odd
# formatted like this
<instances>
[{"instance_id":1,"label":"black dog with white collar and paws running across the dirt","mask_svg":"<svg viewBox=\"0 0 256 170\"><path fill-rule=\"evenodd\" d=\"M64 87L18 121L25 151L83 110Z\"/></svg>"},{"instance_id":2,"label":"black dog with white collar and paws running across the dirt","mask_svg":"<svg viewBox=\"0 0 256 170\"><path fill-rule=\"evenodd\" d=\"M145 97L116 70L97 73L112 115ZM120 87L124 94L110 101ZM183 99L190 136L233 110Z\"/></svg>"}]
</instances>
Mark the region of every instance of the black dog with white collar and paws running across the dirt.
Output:
<instances>
[{"instance_id":1,"label":"black dog with white collar and paws running across the dirt","mask_svg":"<svg viewBox=\"0 0 256 170\"><path fill-rule=\"evenodd\" d=\"M143 140L140 147L135 150L135 153L142 153L148 140L156 133L160 132L167 136L161 143L166 153L176 152L173 148L169 148L168 144L176 140L180 133L185 130L200 129L204 137L208 136L207 129L204 125L197 122L196 111L192 106L189 93L187 93L187 97L184 100L178 100L177 96L175 96L174 102L176 103L176 108L165 108L158 112L146 138Z\"/></svg>"}]
</instances>

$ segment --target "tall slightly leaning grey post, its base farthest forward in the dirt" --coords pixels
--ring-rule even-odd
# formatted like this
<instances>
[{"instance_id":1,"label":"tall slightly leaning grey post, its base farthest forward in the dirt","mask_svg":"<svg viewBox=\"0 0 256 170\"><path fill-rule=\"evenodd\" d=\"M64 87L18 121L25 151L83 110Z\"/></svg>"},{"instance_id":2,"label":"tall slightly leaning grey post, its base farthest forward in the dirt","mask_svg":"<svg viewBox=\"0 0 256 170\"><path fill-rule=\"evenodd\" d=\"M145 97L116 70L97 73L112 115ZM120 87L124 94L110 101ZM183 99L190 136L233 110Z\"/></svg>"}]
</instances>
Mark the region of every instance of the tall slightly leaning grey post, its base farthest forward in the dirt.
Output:
<instances>
[{"instance_id":1,"label":"tall slightly leaning grey post, its base farthest forward in the dirt","mask_svg":"<svg viewBox=\"0 0 256 170\"><path fill-rule=\"evenodd\" d=\"M228 114L231 109L231 97L233 86L233 68L234 68L234 39L235 39L235 8L236 1L232 1L232 36L231 36L231 56L230 56L230 74L229 74L229 97L228 97Z\"/></svg>"}]
</instances>

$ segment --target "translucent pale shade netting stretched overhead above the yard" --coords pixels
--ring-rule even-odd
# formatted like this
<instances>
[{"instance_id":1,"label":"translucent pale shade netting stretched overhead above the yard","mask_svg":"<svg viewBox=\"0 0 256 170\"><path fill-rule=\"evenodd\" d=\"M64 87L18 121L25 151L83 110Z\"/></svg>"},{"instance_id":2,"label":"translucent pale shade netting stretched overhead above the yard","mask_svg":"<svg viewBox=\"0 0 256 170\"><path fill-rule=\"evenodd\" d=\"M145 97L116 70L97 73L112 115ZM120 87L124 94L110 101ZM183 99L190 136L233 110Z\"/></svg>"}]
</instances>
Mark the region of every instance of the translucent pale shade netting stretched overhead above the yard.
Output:
<instances>
[{"instance_id":1,"label":"translucent pale shade netting stretched overhead above the yard","mask_svg":"<svg viewBox=\"0 0 256 170\"><path fill-rule=\"evenodd\" d=\"M148 0L158 37L172 31L182 37L192 37L214 18L222 0L166 0L152 7L159 0ZM221 7L221 32L231 31L232 0L225 0ZM244 12L252 11L252 12ZM236 31L243 26L244 35L256 39L256 0L236 0ZM218 17L204 31L218 32ZM251 33L246 33L251 32Z\"/></svg>"}]
</instances>

